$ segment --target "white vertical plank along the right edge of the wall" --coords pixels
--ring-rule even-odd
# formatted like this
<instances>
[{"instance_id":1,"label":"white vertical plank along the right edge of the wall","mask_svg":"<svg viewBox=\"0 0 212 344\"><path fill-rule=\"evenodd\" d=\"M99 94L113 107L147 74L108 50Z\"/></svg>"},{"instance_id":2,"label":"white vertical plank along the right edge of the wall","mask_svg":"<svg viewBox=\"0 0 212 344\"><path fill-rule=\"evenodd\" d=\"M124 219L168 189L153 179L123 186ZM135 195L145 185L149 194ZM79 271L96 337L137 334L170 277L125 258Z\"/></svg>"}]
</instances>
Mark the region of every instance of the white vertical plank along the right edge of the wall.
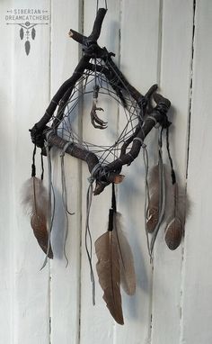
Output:
<instances>
[{"instance_id":1,"label":"white vertical plank along the right edge of the wall","mask_svg":"<svg viewBox=\"0 0 212 344\"><path fill-rule=\"evenodd\" d=\"M210 343L212 3L196 2L181 343Z\"/></svg>"}]
</instances>

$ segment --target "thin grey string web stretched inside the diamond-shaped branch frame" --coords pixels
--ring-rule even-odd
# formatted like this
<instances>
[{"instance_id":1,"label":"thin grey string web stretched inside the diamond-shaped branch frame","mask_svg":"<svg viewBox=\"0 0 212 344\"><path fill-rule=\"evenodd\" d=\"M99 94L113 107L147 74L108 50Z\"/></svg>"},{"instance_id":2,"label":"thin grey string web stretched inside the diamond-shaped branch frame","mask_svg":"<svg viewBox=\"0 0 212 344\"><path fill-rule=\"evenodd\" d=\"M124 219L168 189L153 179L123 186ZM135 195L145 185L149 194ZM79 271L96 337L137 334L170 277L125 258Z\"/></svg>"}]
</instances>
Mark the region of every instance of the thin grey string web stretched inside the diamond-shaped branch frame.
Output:
<instances>
[{"instance_id":1,"label":"thin grey string web stretched inside the diamond-shaped branch frame","mask_svg":"<svg viewBox=\"0 0 212 344\"><path fill-rule=\"evenodd\" d=\"M93 59L91 62L93 64L93 71L87 69L84 70L83 76L75 84L67 103L62 109L60 109L59 113L57 112L57 114L52 117L51 126L55 130L57 129L58 136L69 142L74 142L80 148L92 151L99 158L100 163L107 164L115 158L119 158L119 149L121 148L121 145L133 135L136 131L137 125L141 125L143 122L143 118L137 102L129 94L127 86L123 84L120 77L116 74L116 77L114 77L114 79L109 83L108 79L101 71L104 68L104 62L102 62L102 59ZM97 65L102 69L99 68L97 71L95 68ZM120 128L119 134L115 140L111 142L111 145L102 145L101 142L94 144L90 141L83 140L77 129L77 114L80 109L85 107L86 113L84 111L84 115L90 117L93 101L93 86L100 87L97 104L98 107L103 107L106 101L116 102L117 109L122 109L120 115L125 117L124 119L121 119L121 124L123 123L123 126ZM125 105L123 105L122 100L119 98L117 92L112 86L114 86L118 92L121 92L124 97ZM90 106L90 108L88 108L88 106ZM105 113L102 111L97 111L97 115L101 119L105 117ZM113 111L110 115L115 116L116 113ZM58 120L59 117L60 119ZM110 117L108 120L110 121ZM92 123L90 128L92 128ZM107 131L107 129L96 130ZM128 149L130 149L130 145L128 146Z\"/></svg>"}]
</instances>

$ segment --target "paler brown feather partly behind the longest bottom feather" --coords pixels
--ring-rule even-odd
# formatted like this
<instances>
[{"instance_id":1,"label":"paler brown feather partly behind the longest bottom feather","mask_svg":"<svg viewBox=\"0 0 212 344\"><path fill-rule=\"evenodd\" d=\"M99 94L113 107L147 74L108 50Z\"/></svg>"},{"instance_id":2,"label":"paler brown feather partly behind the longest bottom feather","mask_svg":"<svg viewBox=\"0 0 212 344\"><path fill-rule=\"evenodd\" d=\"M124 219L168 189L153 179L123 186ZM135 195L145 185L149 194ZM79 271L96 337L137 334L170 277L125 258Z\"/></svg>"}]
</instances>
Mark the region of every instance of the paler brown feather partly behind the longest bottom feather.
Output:
<instances>
[{"instance_id":1,"label":"paler brown feather partly behind the longest bottom feather","mask_svg":"<svg viewBox=\"0 0 212 344\"><path fill-rule=\"evenodd\" d=\"M114 229L119 249L120 285L128 295L136 292L136 273L133 254L128 240L121 230L121 214L114 213Z\"/></svg>"}]
</instances>

